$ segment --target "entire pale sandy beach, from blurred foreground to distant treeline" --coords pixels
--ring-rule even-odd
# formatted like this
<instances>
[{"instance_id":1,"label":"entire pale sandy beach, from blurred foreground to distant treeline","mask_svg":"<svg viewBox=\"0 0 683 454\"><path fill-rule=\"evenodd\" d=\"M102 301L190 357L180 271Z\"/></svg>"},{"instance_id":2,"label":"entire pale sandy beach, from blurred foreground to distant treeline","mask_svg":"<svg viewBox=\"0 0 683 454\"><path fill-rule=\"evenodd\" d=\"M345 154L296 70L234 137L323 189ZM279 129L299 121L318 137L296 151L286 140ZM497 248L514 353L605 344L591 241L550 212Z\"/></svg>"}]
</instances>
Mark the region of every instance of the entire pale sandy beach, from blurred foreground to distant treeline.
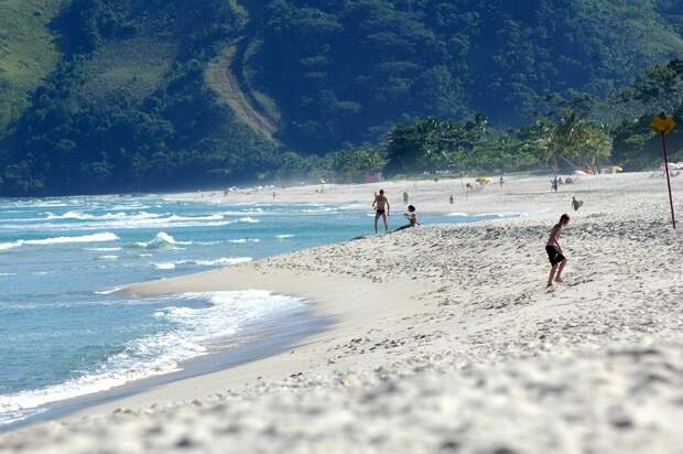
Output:
<instances>
[{"instance_id":1,"label":"entire pale sandy beach, from blurred foreground to distant treeline","mask_svg":"<svg viewBox=\"0 0 683 454\"><path fill-rule=\"evenodd\" d=\"M683 453L683 237L665 181L510 177L278 188L277 203L516 214L422 225L200 274L135 295L269 290L328 329L286 352L0 436L0 453ZM683 177L673 179L683 228ZM273 190L178 194L272 203ZM454 195L455 203L448 203ZM584 202L571 210L572 196ZM545 288L562 213L570 262ZM368 219L368 233L371 219Z\"/></svg>"}]
</instances>

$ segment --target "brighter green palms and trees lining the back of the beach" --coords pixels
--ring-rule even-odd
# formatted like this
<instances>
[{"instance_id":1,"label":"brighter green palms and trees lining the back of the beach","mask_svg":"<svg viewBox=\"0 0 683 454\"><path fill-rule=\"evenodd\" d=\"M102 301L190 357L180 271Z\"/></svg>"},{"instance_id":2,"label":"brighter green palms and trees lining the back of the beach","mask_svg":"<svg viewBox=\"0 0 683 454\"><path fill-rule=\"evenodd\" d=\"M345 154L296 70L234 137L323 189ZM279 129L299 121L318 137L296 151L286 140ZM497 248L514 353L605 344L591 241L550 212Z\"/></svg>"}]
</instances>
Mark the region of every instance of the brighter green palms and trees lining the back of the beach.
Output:
<instances>
[{"instance_id":1,"label":"brighter green palms and trees lining the back of the beach","mask_svg":"<svg viewBox=\"0 0 683 454\"><path fill-rule=\"evenodd\" d=\"M597 172L609 159L612 141L607 128L582 120L573 111L559 121L541 118L505 132L490 128L481 115L465 122L429 118L397 126L380 149L359 148L303 161L290 156L286 176L359 182L368 171L382 170L390 175L490 174L544 166Z\"/></svg>"}]
</instances>

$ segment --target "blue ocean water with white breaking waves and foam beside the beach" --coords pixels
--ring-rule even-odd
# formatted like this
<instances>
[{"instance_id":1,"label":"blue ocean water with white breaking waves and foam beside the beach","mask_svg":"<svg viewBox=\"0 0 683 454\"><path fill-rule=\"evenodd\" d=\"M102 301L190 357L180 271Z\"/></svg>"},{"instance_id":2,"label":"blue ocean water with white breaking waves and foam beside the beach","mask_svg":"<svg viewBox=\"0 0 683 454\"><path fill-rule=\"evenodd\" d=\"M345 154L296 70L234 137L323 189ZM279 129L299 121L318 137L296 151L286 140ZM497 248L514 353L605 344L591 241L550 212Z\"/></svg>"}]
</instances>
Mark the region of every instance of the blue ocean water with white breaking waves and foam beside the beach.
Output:
<instances>
[{"instance_id":1,"label":"blue ocean water with white breaking waves and foam beside the beach","mask_svg":"<svg viewBox=\"0 0 683 454\"><path fill-rule=\"evenodd\" d=\"M511 215L454 213L421 221ZM177 371L191 359L229 352L260 326L308 316L307 302L267 291L135 299L112 292L121 285L371 228L368 213L326 205L159 196L0 201L0 428L52 402Z\"/></svg>"}]
</instances>

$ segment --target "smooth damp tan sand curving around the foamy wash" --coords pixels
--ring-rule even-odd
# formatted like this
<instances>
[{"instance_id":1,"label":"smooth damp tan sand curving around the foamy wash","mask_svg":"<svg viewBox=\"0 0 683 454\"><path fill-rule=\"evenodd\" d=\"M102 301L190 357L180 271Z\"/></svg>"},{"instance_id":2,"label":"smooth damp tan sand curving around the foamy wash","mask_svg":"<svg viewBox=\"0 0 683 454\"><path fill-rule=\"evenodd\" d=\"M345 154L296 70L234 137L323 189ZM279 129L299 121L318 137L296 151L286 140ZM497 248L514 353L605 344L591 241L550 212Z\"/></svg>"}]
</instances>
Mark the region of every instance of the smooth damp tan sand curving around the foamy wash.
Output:
<instances>
[{"instance_id":1,"label":"smooth damp tan sand curving around the foamy wash","mask_svg":"<svg viewBox=\"0 0 683 454\"><path fill-rule=\"evenodd\" d=\"M268 275L267 283L263 282L264 275ZM312 278L324 284L311 285ZM129 285L121 292L137 296L188 293L196 289L202 289L202 291L269 290L275 294L308 301L312 316L325 321L325 327L299 338L282 352L272 352L265 357L247 359L232 367L173 380L122 399L84 408L67 415L66 420L90 418L126 408L192 401L198 397L209 396L221 388L239 387L254 380L272 381L295 376L301 372L302 367L305 368L301 363L314 363L316 345L325 345L329 339L339 336L349 336L349 333L356 332L353 325L361 324L367 316L377 314L397 316L397 314L391 314L390 301L413 295L414 291L410 289L411 287L411 282L400 282L394 283L391 289L368 289L359 287L355 279L330 277L326 273L302 277L290 272L279 272L259 262ZM330 298L330 294L334 296ZM375 304L372 307L362 307L362 304L351 304L349 307L348 301L373 301ZM339 310L340 306L345 309ZM400 309L397 311L400 312ZM312 346L313 349L311 349ZM294 353L296 353L299 363L288 364ZM172 399L170 399L171 396Z\"/></svg>"}]
</instances>

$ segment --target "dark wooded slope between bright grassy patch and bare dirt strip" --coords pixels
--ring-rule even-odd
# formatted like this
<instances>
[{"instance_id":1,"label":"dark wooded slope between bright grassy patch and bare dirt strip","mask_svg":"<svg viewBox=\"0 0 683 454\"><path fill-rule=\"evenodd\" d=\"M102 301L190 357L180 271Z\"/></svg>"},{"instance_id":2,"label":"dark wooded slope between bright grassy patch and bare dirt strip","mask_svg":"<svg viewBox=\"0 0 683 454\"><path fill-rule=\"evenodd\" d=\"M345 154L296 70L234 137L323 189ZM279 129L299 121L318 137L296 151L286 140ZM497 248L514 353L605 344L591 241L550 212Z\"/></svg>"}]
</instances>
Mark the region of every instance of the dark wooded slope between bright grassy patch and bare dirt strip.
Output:
<instances>
[{"instance_id":1,"label":"dark wooded slope between bright grassy patch and bare dirt strip","mask_svg":"<svg viewBox=\"0 0 683 454\"><path fill-rule=\"evenodd\" d=\"M196 187L273 165L205 84L245 25L231 2L73 0L58 23L69 54L7 141L3 193Z\"/></svg>"}]
</instances>

